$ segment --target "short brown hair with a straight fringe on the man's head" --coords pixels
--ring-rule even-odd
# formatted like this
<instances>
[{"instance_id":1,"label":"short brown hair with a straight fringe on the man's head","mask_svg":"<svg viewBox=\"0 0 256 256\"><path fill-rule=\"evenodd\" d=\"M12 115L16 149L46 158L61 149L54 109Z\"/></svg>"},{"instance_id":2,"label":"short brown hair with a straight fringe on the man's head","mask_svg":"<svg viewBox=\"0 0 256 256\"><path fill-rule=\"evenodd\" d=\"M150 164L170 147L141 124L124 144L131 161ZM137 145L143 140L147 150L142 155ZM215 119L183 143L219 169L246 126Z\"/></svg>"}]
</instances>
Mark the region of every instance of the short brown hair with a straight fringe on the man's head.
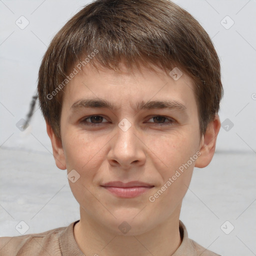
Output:
<instances>
[{"instance_id":1,"label":"short brown hair with a straight fringe on the man's head","mask_svg":"<svg viewBox=\"0 0 256 256\"><path fill-rule=\"evenodd\" d=\"M153 64L170 71L177 66L188 74L194 81L200 134L204 134L223 93L219 59L206 31L168 0L96 0L54 36L39 68L40 108L58 138L63 98L59 85L70 68L95 49L97 54L89 62L94 67L97 63L116 70L123 60L127 68Z\"/></svg>"}]
</instances>

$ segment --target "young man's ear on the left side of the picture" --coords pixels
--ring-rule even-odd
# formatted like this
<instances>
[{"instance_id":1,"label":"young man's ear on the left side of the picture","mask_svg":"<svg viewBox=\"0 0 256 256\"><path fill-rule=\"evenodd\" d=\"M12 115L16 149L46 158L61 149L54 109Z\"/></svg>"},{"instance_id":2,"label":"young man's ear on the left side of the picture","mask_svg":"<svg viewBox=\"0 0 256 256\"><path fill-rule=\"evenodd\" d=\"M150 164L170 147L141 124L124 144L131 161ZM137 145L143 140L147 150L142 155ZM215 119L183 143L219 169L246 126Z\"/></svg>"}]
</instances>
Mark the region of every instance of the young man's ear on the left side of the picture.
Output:
<instances>
[{"instance_id":1,"label":"young man's ear on the left side of the picture","mask_svg":"<svg viewBox=\"0 0 256 256\"><path fill-rule=\"evenodd\" d=\"M46 130L51 141L52 152L55 159L55 163L59 169L64 170L66 169L66 159L65 159L61 140L55 135L51 126L47 122L46 122Z\"/></svg>"}]
</instances>

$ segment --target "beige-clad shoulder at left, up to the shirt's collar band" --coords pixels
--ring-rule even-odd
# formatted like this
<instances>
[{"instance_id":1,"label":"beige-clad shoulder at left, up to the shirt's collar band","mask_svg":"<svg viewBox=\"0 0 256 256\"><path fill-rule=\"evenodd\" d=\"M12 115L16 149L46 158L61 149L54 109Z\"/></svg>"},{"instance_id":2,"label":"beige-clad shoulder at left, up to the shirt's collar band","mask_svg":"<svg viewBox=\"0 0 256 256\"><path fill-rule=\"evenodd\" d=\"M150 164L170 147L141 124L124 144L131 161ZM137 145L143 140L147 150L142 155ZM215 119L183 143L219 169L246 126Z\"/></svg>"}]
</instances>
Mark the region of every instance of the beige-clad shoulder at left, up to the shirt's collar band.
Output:
<instances>
[{"instance_id":1,"label":"beige-clad shoulder at left, up to the shirt's collar band","mask_svg":"<svg viewBox=\"0 0 256 256\"><path fill-rule=\"evenodd\" d=\"M0 255L61 255L58 238L66 228L58 227L41 233L0 237Z\"/></svg>"}]
</instances>

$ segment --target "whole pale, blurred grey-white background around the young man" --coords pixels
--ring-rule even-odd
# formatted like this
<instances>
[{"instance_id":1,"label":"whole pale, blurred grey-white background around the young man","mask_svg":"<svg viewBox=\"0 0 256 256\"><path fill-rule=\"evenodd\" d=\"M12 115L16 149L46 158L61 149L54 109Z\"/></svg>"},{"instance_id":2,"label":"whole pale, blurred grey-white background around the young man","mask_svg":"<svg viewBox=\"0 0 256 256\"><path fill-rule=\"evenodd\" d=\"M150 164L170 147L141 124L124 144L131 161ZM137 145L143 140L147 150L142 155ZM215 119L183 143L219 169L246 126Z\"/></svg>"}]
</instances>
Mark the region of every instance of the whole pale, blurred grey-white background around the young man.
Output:
<instances>
[{"instance_id":1,"label":"whole pale, blurred grey-white background around the young man","mask_svg":"<svg viewBox=\"0 0 256 256\"><path fill-rule=\"evenodd\" d=\"M79 219L66 170L54 163L36 92L41 58L87 0L0 0L0 236ZM222 255L256 255L256 0L175 0L211 37L221 61L221 128L211 163L195 168L180 219L190 238ZM1 248L0 248L1 249Z\"/></svg>"}]
</instances>

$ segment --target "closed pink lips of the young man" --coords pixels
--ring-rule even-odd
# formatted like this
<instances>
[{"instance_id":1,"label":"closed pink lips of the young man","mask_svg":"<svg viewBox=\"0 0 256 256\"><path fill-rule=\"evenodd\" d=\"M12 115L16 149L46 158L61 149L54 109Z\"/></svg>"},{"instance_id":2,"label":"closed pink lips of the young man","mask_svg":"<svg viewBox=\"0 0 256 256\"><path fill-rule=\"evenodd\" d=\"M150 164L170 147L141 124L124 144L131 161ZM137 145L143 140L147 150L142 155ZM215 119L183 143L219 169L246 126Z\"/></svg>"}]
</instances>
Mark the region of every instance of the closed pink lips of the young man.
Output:
<instances>
[{"instance_id":1,"label":"closed pink lips of the young man","mask_svg":"<svg viewBox=\"0 0 256 256\"><path fill-rule=\"evenodd\" d=\"M117 197L132 198L147 192L154 185L141 181L130 181L123 183L121 181L111 181L102 185L109 192Z\"/></svg>"}]
</instances>

